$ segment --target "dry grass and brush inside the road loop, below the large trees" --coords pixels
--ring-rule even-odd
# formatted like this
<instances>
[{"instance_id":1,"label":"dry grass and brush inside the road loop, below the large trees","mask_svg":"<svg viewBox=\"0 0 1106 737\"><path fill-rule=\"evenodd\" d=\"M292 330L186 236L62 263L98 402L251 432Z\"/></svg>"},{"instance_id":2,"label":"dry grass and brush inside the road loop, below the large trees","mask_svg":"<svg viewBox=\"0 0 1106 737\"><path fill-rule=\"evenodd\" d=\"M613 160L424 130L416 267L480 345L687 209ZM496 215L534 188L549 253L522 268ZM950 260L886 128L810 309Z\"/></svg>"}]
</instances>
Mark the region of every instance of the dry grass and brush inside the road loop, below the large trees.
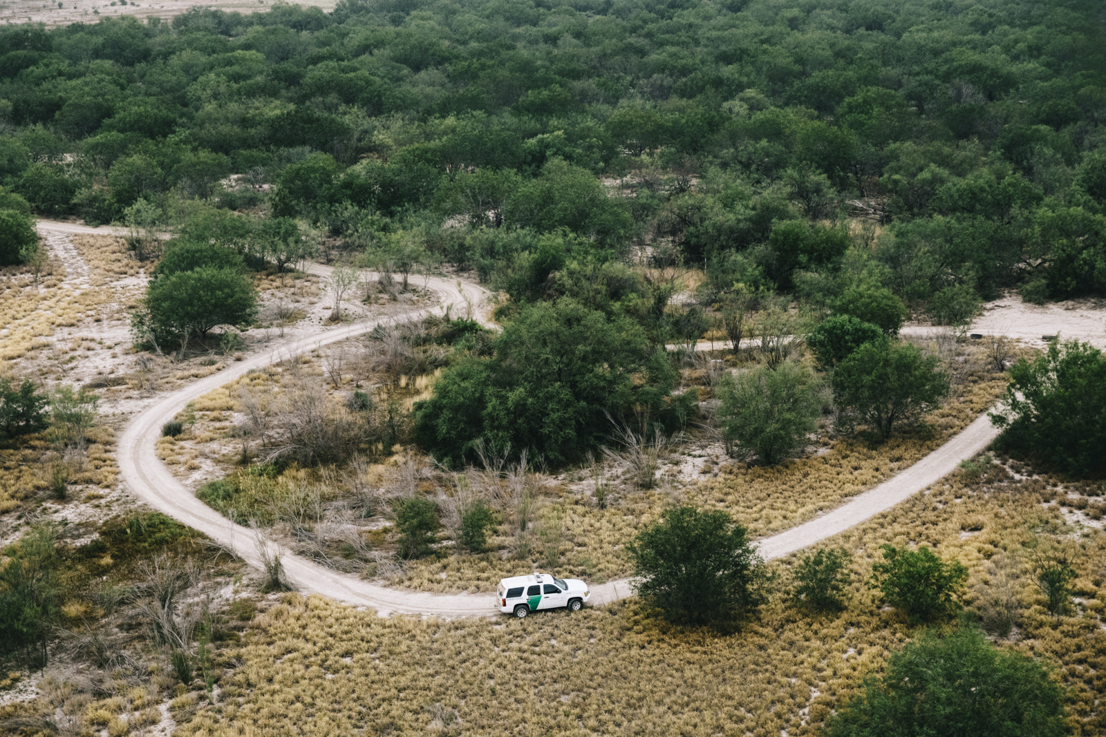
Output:
<instances>
[{"instance_id":1,"label":"dry grass and brush inside the road loop, below the large trees","mask_svg":"<svg viewBox=\"0 0 1106 737\"><path fill-rule=\"evenodd\" d=\"M421 358L404 360L427 370L428 357L445 355L430 336L455 328L438 320L404 330L424 335L405 348ZM409 408L437 385L432 375L411 381L399 375L404 387L393 382L387 361L404 364L388 357L389 340L382 333L290 357L200 398L178 415L180 433L158 441L159 457L188 477L206 463L229 471L199 496L240 524L275 525L290 549L401 586L488 591L520 565L593 581L625 576L625 544L676 497L728 512L757 536L805 522L920 460L991 407L1005 386L987 366L985 351L948 341L943 365L954 375L953 399L928 424L886 442L820 415L823 434L803 438L812 446L802 457L768 466L728 459L709 429L689 428L684 441L659 448L650 438L633 445L632 432L625 446L604 420L611 448L591 464L543 473L480 445L482 460L457 473L410 448L396 452L395 443L410 438ZM940 354L936 345L927 349ZM679 376L711 391L695 367ZM681 472L685 464L692 472ZM397 557L395 512L411 497L435 504L442 524L432 555ZM476 505L493 520L478 550L462 543L462 518Z\"/></svg>"}]
</instances>

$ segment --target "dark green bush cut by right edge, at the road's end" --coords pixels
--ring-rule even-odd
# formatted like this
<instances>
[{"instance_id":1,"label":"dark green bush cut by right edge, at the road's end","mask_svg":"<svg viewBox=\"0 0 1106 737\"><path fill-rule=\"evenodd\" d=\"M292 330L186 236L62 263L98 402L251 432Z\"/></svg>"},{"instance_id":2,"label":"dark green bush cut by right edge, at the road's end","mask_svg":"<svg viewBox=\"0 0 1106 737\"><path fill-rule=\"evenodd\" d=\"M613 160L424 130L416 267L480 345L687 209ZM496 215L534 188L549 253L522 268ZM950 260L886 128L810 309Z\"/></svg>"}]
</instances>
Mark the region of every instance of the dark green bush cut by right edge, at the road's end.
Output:
<instances>
[{"instance_id":1,"label":"dark green bush cut by right edge, at the road's end","mask_svg":"<svg viewBox=\"0 0 1106 737\"><path fill-rule=\"evenodd\" d=\"M1106 356L1070 340L1020 359L990 417L1002 429L1000 448L1075 476L1106 476Z\"/></svg>"}]
</instances>

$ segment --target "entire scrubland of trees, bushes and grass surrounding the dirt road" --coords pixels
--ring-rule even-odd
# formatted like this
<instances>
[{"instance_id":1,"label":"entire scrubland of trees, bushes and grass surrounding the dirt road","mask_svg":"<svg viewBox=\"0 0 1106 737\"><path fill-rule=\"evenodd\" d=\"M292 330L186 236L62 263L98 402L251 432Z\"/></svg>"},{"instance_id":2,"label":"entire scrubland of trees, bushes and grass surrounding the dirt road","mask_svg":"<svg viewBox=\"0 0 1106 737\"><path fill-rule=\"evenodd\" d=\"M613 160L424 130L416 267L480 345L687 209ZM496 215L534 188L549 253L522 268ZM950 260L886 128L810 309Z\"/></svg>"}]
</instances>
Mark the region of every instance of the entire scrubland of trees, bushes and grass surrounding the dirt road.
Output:
<instances>
[{"instance_id":1,"label":"entire scrubland of trees, bushes and grass surrounding the dirt road","mask_svg":"<svg viewBox=\"0 0 1106 737\"><path fill-rule=\"evenodd\" d=\"M0 689L48 668L3 728L836 736L924 703L936 734L1100 731L1104 359L966 335L1003 293L1106 294L1097 12L343 0L0 29L0 358L24 361L0 370L0 515L28 523L4 519ZM128 233L63 276L33 215ZM253 618L228 552L168 518L32 519L113 487L100 389L210 376L325 299L321 325L428 304L441 272L499 325L453 305L283 356L166 418L158 457L352 575L636 570L640 597L442 622L265 588ZM109 304L135 368L72 387L86 341L46 338ZM60 376L22 368L48 347ZM1009 457L753 555L991 408ZM719 573L709 612L670 586Z\"/></svg>"}]
</instances>

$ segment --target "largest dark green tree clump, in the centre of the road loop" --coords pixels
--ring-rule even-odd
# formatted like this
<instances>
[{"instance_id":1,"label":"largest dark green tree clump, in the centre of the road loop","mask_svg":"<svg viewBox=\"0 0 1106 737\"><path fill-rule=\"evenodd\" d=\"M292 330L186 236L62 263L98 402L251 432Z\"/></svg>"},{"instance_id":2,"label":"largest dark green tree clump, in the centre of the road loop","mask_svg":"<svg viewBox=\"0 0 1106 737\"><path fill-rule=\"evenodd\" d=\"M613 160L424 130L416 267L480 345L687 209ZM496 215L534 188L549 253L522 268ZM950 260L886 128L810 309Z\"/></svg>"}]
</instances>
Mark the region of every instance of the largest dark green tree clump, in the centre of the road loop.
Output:
<instances>
[{"instance_id":1,"label":"largest dark green tree clump, in the centre of the road loop","mask_svg":"<svg viewBox=\"0 0 1106 737\"><path fill-rule=\"evenodd\" d=\"M419 444L445 463L474 461L482 441L559 464L582 457L634 408L668 428L695 409L693 393L669 396L676 370L637 324L573 299L523 305L493 348L490 358L461 358L415 404Z\"/></svg>"}]
</instances>

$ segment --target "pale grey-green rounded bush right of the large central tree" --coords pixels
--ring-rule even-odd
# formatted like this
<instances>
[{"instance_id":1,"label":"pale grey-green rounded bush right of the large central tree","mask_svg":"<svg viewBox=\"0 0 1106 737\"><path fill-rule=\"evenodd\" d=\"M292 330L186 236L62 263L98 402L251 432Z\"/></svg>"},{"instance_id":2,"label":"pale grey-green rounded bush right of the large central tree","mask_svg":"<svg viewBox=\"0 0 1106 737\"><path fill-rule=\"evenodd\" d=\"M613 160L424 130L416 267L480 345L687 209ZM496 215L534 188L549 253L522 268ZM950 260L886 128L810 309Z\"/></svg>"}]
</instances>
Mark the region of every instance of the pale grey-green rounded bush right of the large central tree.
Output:
<instances>
[{"instance_id":1,"label":"pale grey-green rounded bush right of the large central tree","mask_svg":"<svg viewBox=\"0 0 1106 737\"><path fill-rule=\"evenodd\" d=\"M718 387L718 418L735 451L772 465L789 457L817 428L822 382L810 368L784 361L733 376Z\"/></svg>"}]
</instances>

